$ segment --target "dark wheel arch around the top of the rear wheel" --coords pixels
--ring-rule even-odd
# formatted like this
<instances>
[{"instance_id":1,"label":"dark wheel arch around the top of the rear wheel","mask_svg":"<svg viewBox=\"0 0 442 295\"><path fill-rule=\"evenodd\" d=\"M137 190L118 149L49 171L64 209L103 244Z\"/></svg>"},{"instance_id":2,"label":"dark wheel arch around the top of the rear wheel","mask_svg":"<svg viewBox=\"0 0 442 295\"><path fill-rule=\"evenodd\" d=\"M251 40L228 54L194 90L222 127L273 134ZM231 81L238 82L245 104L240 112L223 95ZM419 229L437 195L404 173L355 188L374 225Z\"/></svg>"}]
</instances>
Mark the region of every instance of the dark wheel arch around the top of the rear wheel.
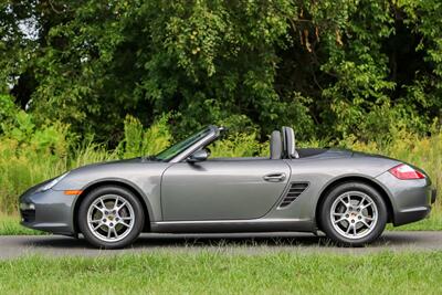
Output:
<instances>
[{"instance_id":1,"label":"dark wheel arch around the top of the rear wheel","mask_svg":"<svg viewBox=\"0 0 442 295\"><path fill-rule=\"evenodd\" d=\"M365 176L344 176L338 179L332 180L329 183L327 183L325 186L325 188L319 193L318 201L316 202L315 218L314 218L316 226L318 226L318 228L320 226L320 222L318 220L318 218L320 215L319 210L320 210L320 207L323 206L323 202L324 202L326 196L328 194L328 192L332 191L334 188L336 188L343 183L346 183L346 182L361 182L361 183L368 185L368 186L372 187L373 189L376 189L382 197L383 201L386 202L387 213L388 213L387 222L394 221L394 210L393 210L391 197L390 197L388 190L382 185L377 182L375 179L368 178Z\"/></svg>"}]
</instances>

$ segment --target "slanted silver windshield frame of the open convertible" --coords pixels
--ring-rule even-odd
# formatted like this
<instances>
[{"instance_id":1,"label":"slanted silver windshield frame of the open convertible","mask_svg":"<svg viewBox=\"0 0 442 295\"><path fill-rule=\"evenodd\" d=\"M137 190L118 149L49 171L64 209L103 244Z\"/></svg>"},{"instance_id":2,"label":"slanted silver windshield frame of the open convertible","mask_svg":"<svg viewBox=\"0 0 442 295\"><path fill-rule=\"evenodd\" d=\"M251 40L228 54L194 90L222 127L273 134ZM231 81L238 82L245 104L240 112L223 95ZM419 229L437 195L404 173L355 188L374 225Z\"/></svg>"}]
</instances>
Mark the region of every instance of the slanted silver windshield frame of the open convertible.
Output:
<instances>
[{"instance_id":1,"label":"slanted silver windshield frame of the open convertible","mask_svg":"<svg viewBox=\"0 0 442 295\"><path fill-rule=\"evenodd\" d=\"M193 151L198 150L201 147L207 146L208 144L215 140L220 135L219 128L213 125L209 125L198 133L192 134L191 136L187 137L186 139L166 148L165 150L158 152L155 158L160 161L166 162L179 162L187 159ZM194 138L194 139L193 139ZM193 140L191 140L193 139ZM189 141L189 143L187 143ZM179 147L182 145L182 147ZM173 149L178 148L177 151L173 151L171 155L162 158L160 155L166 154L167 151L172 151Z\"/></svg>"}]
</instances>

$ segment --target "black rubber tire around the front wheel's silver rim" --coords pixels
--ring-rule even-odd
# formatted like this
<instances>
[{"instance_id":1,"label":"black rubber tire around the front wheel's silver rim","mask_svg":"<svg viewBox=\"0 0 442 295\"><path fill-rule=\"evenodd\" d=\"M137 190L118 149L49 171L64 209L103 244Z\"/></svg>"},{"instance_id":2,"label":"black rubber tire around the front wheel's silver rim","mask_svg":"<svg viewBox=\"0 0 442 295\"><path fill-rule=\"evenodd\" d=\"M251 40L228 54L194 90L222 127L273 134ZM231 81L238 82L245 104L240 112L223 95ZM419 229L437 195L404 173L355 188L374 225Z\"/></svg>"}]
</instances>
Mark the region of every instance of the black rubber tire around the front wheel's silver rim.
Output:
<instances>
[{"instance_id":1,"label":"black rubber tire around the front wheel's silver rim","mask_svg":"<svg viewBox=\"0 0 442 295\"><path fill-rule=\"evenodd\" d=\"M123 240L119 241L104 241L98 239L93 231L90 229L87 224L87 214L90 207L101 197L104 196L118 196L126 200L133 209L133 213L135 217L133 226L130 230L127 230L127 235L124 236ZM83 199L78 215L77 215L80 231L83 233L84 238L88 243L96 247L103 249L120 249L127 245L130 245L141 233L144 224L145 224L145 212L143 206L138 198L134 196L133 192L117 186L106 186L99 187L87 193L87 196Z\"/></svg>"}]
</instances>

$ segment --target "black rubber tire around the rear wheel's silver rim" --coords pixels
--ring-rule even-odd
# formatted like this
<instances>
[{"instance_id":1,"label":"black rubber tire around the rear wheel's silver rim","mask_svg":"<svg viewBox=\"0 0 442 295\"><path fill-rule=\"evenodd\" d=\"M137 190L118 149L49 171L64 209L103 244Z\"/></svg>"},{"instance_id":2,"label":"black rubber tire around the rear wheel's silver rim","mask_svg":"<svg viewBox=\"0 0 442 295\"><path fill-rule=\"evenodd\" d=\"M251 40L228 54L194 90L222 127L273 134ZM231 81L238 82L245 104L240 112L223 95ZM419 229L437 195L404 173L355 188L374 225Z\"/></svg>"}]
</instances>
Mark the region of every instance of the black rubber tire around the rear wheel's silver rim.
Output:
<instances>
[{"instance_id":1,"label":"black rubber tire around the rear wheel's silver rim","mask_svg":"<svg viewBox=\"0 0 442 295\"><path fill-rule=\"evenodd\" d=\"M343 194L346 194L349 192L350 193L358 192L358 193L368 196L369 198L371 198L371 200L375 203L376 209L377 209L377 222L375 223L375 225L372 225L371 231L367 230L367 232L369 232L369 233L365 236L361 236L360 239L357 239L357 238L348 239L347 236L345 236L345 233L338 232L338 230L335 229L335 226L333 225L334 222L332 221L332 217L330 217L330 214L332 214L330 212L333 210L333 204L335 203L335 201L338 198L340 198ZM357 197L355 197L355 198L357 198ZM354 207L351 207L351 208L354 208ZM352 210L355 210L355 209L352 209ZM348 214L345 214L345 217L348 217ZM352 215L350 215L350 218L351 217ZM343 215L343 218L344 218L344 215ZM339 219L339 218L336 218L336 219ZM356 217L355 217L355 219L356 219ZM322 230L326 233L326 235L329 239L332 239L338 245L344 245L344 246L362 246L362 245L371 243L372 241L378 239L379 235L383 232L386 224L387 224L387 220L388 220L388 210L387 210L386 202L382 199L381 194L375 188L372 188L371 186L366 185L364 182L356 182L356 181L355 182L345 182L345 183L341 183L341 185L333 188L327 193L327 196L324 199L324 202L320 204L320 208L319 208L319 224L320 224ZM357 224L357 222L358 221L356 221L356 224ZM348 222L348 223L344 223L344 224L350 224L350 223ZM358 225L358 226L360 226L360 225ZM364 234L364 232L361 233L361 235L362 234Z\"/></svg>"}]
</instances>

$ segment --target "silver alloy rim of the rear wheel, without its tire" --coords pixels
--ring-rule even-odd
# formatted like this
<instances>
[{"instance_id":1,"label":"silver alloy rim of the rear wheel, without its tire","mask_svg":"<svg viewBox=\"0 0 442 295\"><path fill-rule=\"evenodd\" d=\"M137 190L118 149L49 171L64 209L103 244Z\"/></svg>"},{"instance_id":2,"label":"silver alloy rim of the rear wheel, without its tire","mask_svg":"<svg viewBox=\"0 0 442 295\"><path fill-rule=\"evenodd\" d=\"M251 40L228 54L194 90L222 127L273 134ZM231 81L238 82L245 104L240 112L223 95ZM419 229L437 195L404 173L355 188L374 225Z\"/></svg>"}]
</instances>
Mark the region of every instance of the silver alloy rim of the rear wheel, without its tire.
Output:
<instances>
[{"instance_id":1,"label":"silver alloy rim of the rear wheel, without its tire","mask_svg":"<svg viewBox=\"0 0 442 295\"><path fill-rule=\"evenodd\" d=\"M366 193L348 191L332 204L333 228L347 239L361 239L375 229L378 222L378 207Z\"/></svg>"}]
</instances>

